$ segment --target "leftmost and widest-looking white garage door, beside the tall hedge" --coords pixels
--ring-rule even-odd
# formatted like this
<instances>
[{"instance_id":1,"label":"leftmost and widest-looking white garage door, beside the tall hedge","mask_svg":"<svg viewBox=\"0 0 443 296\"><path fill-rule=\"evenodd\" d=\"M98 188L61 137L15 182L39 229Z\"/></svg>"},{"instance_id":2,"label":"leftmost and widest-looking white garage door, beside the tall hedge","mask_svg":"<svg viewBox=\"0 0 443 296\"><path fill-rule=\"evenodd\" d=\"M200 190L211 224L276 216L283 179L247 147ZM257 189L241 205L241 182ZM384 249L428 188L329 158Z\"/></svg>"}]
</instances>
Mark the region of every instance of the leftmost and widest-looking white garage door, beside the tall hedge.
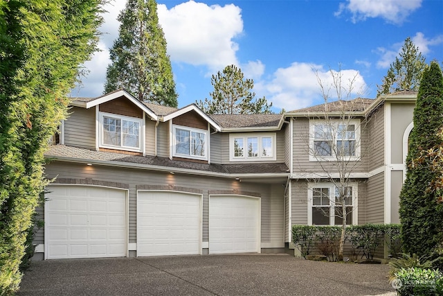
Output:
<instances>
[{"instance_id":1,"label":"leftmost and widest-looking white garage door, beside the tall hedge","mask_svg":"<svg viewBox=\"0 0 443 296\"><path fill-rule=\"evenodd\" d=\"M127 256L126 191L98 186L48 186L45 258Z\"/></svg>"}]
</instances>

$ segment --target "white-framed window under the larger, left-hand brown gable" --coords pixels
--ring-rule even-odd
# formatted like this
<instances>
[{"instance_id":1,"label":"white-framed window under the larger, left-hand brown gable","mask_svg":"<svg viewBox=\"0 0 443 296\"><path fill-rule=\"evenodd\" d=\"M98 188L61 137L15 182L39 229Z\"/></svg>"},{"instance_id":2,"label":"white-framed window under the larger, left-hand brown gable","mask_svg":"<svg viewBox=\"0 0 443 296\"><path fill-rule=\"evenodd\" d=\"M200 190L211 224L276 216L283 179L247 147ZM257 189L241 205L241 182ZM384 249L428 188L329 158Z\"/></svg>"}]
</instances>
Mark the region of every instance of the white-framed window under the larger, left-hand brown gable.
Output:
<instances>
[{"instance_id":1,"label":"white-framed window under the larger, left-hand brown gable","mask_svg":"<svg viewBox=\"0 0 443 296\"><path fill-rule=\"evenodd\" d=\"M100 112L100 147L142 150L141 119Z\"/></svg>"}]
</instances>

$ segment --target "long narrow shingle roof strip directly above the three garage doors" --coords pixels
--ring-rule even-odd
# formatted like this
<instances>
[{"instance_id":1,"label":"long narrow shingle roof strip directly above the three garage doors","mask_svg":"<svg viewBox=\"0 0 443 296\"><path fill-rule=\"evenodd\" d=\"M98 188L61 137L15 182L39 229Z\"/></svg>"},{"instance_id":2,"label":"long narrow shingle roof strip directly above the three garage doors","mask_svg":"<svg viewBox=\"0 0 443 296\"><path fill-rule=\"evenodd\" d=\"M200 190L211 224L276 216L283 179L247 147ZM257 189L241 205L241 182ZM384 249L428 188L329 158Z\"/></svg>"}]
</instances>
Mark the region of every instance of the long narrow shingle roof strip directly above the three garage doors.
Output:
<instances>
[{"instance_id":1,"label":"long narrow shingle roof strip directly above the three garage doors","mask_svg":"<svg viewBox=\"0 0 443 296\"><path fill-rule=\"evenodd\" d=\"M239 174L239 173L287 173L288 167L282 163L264 164L204 164L199 162L186 162L172 160L168 157L125 155L120 153L109 153L96 150L88 150L64 145L51 146L45 153L46 157L67 157L70 159L84 159L102 162L124 162L127 164L138 164L150 168L153 166L164 167L165 170L174 171L183 168L190 171L205 171L212 173Z\"/></svg>"}]
</instances>

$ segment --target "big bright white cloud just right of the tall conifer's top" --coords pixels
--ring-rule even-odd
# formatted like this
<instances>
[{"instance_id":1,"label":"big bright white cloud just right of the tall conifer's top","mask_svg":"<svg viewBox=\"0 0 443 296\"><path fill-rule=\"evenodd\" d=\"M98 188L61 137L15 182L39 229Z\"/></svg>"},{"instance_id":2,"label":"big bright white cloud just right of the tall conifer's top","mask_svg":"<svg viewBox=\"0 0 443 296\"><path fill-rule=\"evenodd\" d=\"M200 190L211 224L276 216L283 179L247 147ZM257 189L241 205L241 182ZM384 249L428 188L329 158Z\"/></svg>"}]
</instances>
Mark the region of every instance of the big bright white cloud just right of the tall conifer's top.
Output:
<instances>
[{"instance_id":1,"label":"big bright white cloud just right of the tall conifer's top","mask_svg":"<svg viewBox=\"0 0 443 296\"><path fill-rule=\"evenodd\" d=\"M171 60L205 65L212 70L238 64L235 56L238 44L233 39L243 32L240 12L233 4L221 7L188 1L170 10L160 4L159 23Z\"/></svg>"}]
</instances>

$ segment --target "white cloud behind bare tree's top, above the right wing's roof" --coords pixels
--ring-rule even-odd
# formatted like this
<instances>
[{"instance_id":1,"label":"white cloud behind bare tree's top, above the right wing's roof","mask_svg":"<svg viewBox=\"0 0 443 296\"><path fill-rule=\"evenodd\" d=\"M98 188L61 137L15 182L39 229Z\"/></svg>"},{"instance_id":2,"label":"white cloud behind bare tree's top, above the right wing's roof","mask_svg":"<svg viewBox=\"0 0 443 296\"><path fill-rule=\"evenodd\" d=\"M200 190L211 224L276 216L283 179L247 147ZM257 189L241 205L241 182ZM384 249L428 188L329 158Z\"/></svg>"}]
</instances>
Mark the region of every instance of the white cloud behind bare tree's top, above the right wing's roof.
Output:
<instances>
[{"instance_id":1,"label":"white cloud behind bare tree's top, above the right wing's roof","mask_svg":"<svg viewBox=\"0 0 443 296\"><path fill-rule=\"evenodd\" d=\"M332 73L336 75L337 71L332 69ZM322 103L322 91L318 79L323 84L325 93L327 89L331 89L329 99L331 101L337 99L332 86L332 73L320 64L293 62L287 68L277 69L271 81L258 83L258 89L266 92L268 101L271 101L274 107L284 107L287 111L296 110ZM351 98L360 96L362 89L366 89L365 80L359 71L341 69L341 75L344 89L349 89L350 81L353 80ZM342 99L345 99L344 96Z\"/></svg>"}]
</instances>

